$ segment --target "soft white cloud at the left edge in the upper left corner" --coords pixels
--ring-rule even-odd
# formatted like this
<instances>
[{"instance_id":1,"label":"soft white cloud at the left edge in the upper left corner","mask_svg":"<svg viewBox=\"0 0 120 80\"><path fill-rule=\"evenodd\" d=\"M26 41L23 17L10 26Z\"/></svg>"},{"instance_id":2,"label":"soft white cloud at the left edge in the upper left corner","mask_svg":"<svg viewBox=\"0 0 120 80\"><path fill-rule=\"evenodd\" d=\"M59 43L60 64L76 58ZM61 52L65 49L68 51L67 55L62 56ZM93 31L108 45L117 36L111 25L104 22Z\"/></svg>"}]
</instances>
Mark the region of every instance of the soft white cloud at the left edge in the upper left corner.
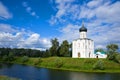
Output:
<instances>
[{"instance_id":1,"label":"soft white cloud at the left edge in the upper left corner","mask_svg":"<svg viewBox=\"0 0 120 80\"><path fill-rule=\"evenodd\" d=\"M0 19L12 18L12 14L8 11L7 7L0 2Z\"/></svg>"}]
</instances>

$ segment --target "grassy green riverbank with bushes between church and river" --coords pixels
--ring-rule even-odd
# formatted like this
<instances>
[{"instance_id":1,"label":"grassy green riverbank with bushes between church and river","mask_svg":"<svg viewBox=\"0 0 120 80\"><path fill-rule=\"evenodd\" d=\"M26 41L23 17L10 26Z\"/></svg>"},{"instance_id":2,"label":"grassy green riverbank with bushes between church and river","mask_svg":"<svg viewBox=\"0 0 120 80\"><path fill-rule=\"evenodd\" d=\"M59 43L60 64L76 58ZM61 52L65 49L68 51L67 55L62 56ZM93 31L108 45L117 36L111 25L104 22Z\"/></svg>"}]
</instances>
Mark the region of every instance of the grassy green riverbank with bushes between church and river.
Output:
<instances>
[{"instance_id":1,"label":"grassy green riverbank with bushes between church and river","mask_svg":"<svg viewBox=\"0 0 120 80\"><path fill-rule=\"evenodd\" d=\"M94 69L94 65L99 60L103 62L102 66L104 67L104 69ZM22 57L17 57L14 61L11 61L10 63L69 71L120 73L120 64L107 59L73 59L68 57L49 57L29 58L28 60L23 61Z\"/></svg>"}]
</instances>

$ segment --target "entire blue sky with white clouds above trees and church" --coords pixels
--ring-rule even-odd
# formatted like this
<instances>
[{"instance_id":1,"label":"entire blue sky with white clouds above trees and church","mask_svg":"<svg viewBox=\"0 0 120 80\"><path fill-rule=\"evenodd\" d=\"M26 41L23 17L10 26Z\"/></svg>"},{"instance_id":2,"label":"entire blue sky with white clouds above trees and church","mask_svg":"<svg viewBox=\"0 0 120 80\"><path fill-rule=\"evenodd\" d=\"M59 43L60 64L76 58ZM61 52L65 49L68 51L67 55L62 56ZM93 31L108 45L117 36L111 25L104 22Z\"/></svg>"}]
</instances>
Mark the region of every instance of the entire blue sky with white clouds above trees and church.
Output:
<instances>
[{"instance_id":1,"label":"entire blue sky with white clouds above trees and church","mask_svg":"<svg viewBox=\"0 0 120 80\"><path fill-rule=\"evenodd\" d=\"M95 48L120 47L120 0L0 0L0 47L45 50L70 43L84 21Z\"/></svg>"}]
</instances>

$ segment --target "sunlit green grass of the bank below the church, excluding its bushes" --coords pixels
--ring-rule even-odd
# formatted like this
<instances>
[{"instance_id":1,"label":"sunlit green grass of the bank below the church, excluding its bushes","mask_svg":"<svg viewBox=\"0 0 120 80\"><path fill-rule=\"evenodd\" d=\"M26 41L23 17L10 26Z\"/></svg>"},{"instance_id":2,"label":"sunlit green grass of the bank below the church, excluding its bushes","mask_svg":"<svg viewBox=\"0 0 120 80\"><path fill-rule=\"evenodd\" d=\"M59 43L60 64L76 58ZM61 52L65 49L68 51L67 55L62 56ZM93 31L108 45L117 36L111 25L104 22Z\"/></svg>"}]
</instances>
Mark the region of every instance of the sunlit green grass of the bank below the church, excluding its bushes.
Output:
<instances>
[{"instance_id":1,"label":"sunlit green grass of the bank below the church, excluding its bushes","mask_svg":"<svg viewBox=\"0 0 120 80\"><path fill-rule=\"evenodd\" d=\"M47 68L47 69L53 69L53 70L62 70L62 71L72 71L72 72L85 72L85 73L120 73L120 64L114 63L110 61L110 65L117 65L117 68L115 69L115 67L111 68L111 69L107 69L109 68L108 66L105 66L104 70L93 70L92 69L92 64L88 63L87 61L96 61L96 59L72 59L72 58L61 58L64 61L63 66L57 68L55 67L55 62L56 59L58 57L50 57L50 58L42 58L42 62L38 63L37 65L35 65L35 61L38 60L38 58L29 58L28 62L22 63L20 61L21 58L17 58L15 61L12 62L5 62L5 63L12 63L12 64L21 64L21 65L27 65L27 66L33 66L33 67L38 67L38 68ZM67 62L69 60L69 62ZM72 61L73 60L73 61ZM107 62L106 59L102 59L104 62ZM74 61L78 61L78 62L84 62L85 61L88 64L84 64L84 65L80 65L80 63L78 63L78 65L76 66L75 64L72 64L72 62ZM66 63L65 63L66 62ZM4 63L3 61L1 61L1 63ZM75 63L75 62L74 62ZM82 63L81 63L82 64ZM86 67L89 66L89 67ZM69 68L68 68L69 67ZM79 68L80 67L80 68Z\"/></svg>"}]
</instances>

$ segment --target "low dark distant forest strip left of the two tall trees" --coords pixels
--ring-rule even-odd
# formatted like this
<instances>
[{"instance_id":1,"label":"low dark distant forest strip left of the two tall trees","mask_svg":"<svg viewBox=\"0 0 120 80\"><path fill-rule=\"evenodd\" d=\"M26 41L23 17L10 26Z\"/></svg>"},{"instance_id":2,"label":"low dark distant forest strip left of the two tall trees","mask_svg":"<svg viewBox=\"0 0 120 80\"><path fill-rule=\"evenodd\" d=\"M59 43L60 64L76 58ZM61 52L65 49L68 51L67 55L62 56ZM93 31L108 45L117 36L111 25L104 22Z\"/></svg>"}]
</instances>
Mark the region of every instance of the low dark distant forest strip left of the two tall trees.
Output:
<instances>
[{"instance_id":1,"label":"low dark distant forest strip left of the two tall trees","mask_svg":"<svg viewBox=\"0 0 120 80\"><path fill-rule=\"evenodd\" d=\"M33 50L33 49L24 49L24 48L0 48L0 57L8 56L28 56L28 57L47 57L46 51Z\"/></svg>"}]
</instances>

